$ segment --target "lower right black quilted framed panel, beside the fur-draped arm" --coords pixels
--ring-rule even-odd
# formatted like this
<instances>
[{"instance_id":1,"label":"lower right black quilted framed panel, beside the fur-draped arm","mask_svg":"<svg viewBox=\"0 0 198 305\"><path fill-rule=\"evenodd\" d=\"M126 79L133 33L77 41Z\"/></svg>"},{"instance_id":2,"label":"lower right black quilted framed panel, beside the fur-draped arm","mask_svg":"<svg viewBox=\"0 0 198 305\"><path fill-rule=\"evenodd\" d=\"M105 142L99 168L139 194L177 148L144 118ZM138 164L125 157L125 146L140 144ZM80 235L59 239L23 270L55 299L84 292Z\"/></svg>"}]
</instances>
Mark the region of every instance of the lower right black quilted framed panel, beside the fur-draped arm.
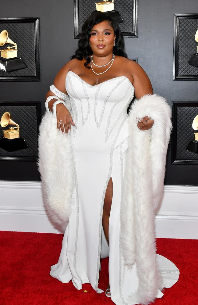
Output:
<instances>
[{"instance_id":1,"label":"lower right black quilted framed panel, beside the fur-draped arm","mask_svg":"<svg viewBox=\"0 0 198 305\"><path fill-rule=\"evenodd\" d=\"M172 164L198 164L198 154L186 149L195 139L192 123L197 114L198 102L172 102Z\"/></svg>"}]
</instances>

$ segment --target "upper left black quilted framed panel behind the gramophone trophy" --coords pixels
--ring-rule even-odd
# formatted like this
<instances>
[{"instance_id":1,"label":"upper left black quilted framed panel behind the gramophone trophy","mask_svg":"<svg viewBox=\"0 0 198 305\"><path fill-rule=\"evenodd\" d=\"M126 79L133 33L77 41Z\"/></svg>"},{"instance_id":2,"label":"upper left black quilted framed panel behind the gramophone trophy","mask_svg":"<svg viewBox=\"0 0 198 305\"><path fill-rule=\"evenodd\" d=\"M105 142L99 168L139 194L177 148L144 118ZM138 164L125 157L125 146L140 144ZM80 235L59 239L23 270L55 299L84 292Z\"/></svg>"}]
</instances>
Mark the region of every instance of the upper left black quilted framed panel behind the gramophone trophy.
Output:
<instances>
[{"instance_id":1,"label":"upper left black quilted framed panel behind the gramophone trophy","mask_svg":"<svg viewBox=\"0 0 198 305\"><path fill-rule=\"evenodd\" d=\"M17 44L17 56L27 68L11 72L0 70L0 81L41 81L39 17L0 18L0 33L7 30L9 38ZM13 46L5 43L0 50Z\"/></svg>"}]
</instances>

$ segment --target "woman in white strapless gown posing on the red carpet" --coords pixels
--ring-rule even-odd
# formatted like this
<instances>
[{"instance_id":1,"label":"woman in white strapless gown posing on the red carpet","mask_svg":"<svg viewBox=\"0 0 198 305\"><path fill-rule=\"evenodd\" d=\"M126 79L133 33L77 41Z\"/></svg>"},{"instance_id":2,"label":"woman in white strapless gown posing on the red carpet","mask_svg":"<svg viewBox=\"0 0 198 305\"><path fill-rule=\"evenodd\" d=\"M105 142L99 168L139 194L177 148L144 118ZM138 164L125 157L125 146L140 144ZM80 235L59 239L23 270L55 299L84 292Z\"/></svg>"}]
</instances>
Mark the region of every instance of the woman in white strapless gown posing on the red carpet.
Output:
<instances>
[{"instance_id":1,"label":"woman in white strapless gown posing on the red carpet","mask_svg":"<svg viewBox=\"0 0 198 305\"><path fill-rule=\"evenodd\" d=\"M71 139L75 160L74 205L58 263L51 266L50 274L64 283L72 280L77 289L90 283L101 293L100 261L109 256L110 286L105 293L117 305L142 300L132 295L139 282L136 269L122 261L120 202L129 147L127 109L134 95L140 99L147 94L153 94L150 80L127 59L117 23L96 12L85 21L75 56L58 72L46 95L47 110L56 114L59 134ZM136 124L144 133L154 120L144 116ZM167 266L175 267L171 262ZM158 289L155 297L161 296Z\"/></svg>"}]
</instances>

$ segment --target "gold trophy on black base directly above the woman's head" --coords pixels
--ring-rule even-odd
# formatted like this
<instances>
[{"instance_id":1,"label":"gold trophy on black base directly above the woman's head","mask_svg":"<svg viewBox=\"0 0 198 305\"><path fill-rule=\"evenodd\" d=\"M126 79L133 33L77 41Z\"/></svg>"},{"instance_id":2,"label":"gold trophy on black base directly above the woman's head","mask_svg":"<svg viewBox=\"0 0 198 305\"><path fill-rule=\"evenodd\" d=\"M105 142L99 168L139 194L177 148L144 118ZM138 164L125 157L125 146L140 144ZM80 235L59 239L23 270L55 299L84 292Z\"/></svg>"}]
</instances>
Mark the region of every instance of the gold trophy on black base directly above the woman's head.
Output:
<instances>
[{"instance_id":1,"label":"gold trophy on black base directly above the woman's head","mask_svg":"<svg viewBox=\"0 0 198 305\"><path fill-rule=\"evenodd\" d=\"M124 22L120 13L114 10L114 0L103 0L101 2L96 2L96 11L103 12L114 19L117 23Z\"/></svg>"}]
</instances>

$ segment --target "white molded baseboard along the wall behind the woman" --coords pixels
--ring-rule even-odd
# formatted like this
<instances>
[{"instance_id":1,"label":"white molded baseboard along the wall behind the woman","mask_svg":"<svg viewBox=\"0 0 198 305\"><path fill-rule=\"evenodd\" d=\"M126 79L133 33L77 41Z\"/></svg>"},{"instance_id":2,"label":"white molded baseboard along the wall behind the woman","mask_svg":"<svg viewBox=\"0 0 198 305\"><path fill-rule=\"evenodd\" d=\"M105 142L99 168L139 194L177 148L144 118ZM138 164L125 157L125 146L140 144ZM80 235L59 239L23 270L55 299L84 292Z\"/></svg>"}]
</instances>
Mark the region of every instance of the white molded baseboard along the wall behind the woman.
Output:
<instances>
[{"instance_id":1,"label":"white molded baseboard along the wall behind the woman","mask_svg":"<svg viewBox=\"0 0 198 305\"><path fill-rule=\"evenodd\" d=\"M165 185L157 238L198 239L198 187ZM41 182L0 181L0 230L60 233L45 213Z\"/></svg>"}]
</instances>

